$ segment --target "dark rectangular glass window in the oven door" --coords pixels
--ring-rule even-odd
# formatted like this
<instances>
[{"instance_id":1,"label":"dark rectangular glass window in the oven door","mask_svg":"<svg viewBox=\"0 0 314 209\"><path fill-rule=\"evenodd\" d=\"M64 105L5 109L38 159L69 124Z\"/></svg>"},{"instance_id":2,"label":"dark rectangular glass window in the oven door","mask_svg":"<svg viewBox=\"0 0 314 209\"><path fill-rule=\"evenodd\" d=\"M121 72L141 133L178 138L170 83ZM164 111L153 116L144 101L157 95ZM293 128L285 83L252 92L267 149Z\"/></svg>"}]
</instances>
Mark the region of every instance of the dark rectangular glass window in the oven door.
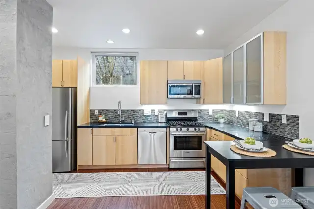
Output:
<instances>
[{"instance_id":1,"label":"dark rectangular glass window in the oven door","mask_svg":"<svg viewBox=\"0 0 314 209\"><path fill-rule=\"evenodd\" d=\"M174 136L174 150L202 150L202 136Z\"/></svg>"}]
</instances>

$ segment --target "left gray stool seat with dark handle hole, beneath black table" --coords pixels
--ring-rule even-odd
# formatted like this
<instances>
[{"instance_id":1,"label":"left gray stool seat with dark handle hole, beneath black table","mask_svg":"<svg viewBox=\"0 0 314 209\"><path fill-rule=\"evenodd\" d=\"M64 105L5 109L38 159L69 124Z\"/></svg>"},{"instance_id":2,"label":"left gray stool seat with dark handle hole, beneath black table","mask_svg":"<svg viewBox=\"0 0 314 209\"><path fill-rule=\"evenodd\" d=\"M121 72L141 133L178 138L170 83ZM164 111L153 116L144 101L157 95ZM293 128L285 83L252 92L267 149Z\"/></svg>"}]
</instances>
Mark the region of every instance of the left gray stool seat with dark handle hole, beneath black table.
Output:
<instances>
[{"instance_id":1,"label":"left gray stool seat with dark handle hole, beneath black table","mask_svg":"<svg viewBox=\"0 0 314 209\"><path fill-rule=\"evenodd\" d=\"M245 209L246 202L254 209L302 209L288 196L271 187L244 188L241 209Z\"/></svg>"}]
</instances>

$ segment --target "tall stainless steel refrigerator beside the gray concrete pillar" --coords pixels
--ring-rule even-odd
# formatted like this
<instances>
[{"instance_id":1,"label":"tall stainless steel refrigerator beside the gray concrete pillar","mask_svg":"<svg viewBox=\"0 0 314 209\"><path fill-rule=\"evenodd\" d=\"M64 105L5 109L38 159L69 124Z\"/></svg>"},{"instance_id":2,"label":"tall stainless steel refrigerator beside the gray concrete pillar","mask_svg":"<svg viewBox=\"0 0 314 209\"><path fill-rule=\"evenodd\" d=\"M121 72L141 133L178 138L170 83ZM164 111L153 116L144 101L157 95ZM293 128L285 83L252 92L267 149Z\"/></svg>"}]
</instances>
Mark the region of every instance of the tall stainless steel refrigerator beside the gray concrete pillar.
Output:
<instances>
[{"instance_id":1,"label":"tall stainless steel refrigerator beside the gray concrete pillar","mask_svg":"<svg viewBox=\"0 0 314 209\"><path fill-rule=\"evenodd\" d=\"M76 168L76 88L52 88L52 171Z\"/></svg>"}]
</instances>

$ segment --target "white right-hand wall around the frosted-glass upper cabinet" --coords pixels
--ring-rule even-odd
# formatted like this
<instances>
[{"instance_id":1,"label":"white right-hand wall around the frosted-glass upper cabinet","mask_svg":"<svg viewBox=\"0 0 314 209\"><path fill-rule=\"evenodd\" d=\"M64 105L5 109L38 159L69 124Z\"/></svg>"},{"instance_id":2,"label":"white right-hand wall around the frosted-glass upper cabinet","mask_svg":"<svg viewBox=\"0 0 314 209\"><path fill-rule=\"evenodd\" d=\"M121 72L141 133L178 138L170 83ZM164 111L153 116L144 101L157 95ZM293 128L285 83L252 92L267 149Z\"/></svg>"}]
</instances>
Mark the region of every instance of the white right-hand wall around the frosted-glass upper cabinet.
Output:
<instances>
[{"instance_id":1,"label":"white right-hand wall around the frosted-glass upper cabinet","mask_svg":"<svg viewBox=\"0 0 314 209\"><path fill-rule=\"evenodd\" d=\"M241 106L253 111L300 116L300 137L314 139L314 1L290 0L225 49L225 54L262 31L287 31L287 105ZM314 165L313 165L314 166ZM314 169L306 169L305 184L314 185Z\"/></svg>"}]
</instances>

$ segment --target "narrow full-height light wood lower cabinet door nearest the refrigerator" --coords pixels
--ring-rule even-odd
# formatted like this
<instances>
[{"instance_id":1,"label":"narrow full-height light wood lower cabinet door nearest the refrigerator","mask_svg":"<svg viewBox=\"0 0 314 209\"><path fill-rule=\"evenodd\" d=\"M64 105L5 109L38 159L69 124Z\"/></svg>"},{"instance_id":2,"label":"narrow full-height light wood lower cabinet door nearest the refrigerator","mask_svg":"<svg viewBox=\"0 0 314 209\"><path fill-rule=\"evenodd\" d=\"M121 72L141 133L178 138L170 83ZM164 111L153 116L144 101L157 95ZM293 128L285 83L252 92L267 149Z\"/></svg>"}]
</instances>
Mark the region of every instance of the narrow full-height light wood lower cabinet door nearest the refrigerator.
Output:
<instances>
[{"instance_id":1,"label":"narrow full-height light wood lower cabinet door nearest the refrigerator","mask_svg":"<svg viewBox=\"0 0 314 209\"><path fill-rule=\"evenodd\" d=\"M77 134L77 164L93 164L93 133L90 128L80 128Z\"/></svg>"}]
</instances>

